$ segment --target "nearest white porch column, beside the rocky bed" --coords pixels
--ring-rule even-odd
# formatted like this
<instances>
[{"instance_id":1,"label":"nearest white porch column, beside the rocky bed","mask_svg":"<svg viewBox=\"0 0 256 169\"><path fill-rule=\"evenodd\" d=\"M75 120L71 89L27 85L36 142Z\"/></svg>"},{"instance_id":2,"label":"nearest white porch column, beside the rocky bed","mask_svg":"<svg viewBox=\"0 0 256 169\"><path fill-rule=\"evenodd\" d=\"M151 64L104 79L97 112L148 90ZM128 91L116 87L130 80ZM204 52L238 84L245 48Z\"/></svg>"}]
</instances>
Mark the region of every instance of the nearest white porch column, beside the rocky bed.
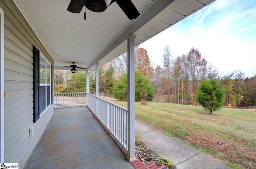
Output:
<instances>
[{"instance_id":1,"label":"nearest white porch column, beside the rocky bed","mask_svg":"<svg viewBox=\"0 0 256 169\"><path fill-rule=\"evenodd\" d=\"M127 60L128 60L128 156L132 162L135 160L135 69L134 69L134 39L129 36L127 39Z\"/></svg>"}]
</instances>

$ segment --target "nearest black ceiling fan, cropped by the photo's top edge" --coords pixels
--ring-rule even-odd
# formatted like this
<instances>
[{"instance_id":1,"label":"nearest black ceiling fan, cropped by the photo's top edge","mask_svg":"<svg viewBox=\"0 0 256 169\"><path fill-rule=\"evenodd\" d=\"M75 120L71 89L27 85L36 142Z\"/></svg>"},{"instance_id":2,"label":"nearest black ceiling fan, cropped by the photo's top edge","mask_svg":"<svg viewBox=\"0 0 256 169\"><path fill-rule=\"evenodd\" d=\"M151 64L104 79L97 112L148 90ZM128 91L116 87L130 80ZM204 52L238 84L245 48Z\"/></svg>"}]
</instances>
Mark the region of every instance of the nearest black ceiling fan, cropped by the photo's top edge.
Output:
<instances>
[{"instance_id":1,"label":"nearest black ceiling fan, cropped by the photo's top edge","mask_svg":"<svg viewBox=\"0 0 256 169\"><path fill-rule=\"evenodd\" d=\"M117 3L121 7L126 16L132 20L136 19L140 13L134 6L131 0L71 0L68 5L68 11L72 13L80 13L85 6L93 12L103 12L107 9L107 6ZM86 19L86 13L84 12L84 19Z\"/></svg>"}]
</instances>

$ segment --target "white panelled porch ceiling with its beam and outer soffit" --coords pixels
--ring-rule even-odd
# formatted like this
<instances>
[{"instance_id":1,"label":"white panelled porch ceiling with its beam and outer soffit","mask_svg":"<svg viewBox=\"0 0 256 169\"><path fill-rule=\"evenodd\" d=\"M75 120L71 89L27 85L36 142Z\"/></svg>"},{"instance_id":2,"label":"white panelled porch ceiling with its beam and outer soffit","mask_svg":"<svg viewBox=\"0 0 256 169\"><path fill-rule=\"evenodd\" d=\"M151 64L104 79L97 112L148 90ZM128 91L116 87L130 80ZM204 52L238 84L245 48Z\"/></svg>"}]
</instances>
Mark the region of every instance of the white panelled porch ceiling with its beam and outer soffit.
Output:
<instances>
[{"instance_id":1,"label":"white panelled porch ceiling with its beam and outer soffit","mask_svg":"<svg viewBox=\"0 0 256 169\"><path fill-rule=\"evenodd\" d=\"M70 0L13 0L25 15L54 59L55 68L76 62L93 70L124 53L126 38L135 35L135 45L155 36L214 0L133 0L140 12L129 20L114 3L105 12L67 11Z\"/></svg>"}]
</instances>

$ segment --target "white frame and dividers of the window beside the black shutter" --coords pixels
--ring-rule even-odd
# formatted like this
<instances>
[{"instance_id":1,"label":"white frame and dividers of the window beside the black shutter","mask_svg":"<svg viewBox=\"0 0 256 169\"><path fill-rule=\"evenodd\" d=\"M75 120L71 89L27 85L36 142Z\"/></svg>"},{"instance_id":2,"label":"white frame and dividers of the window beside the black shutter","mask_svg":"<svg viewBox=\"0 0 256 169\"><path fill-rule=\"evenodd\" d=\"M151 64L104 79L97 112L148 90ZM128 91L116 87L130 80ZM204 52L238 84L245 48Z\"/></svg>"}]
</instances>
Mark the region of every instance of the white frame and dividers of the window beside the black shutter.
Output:
<instances>
[{"instance_id":1,"label":"white frame and dividers of the window beside the black shutter","mask_svg":"<svg viewBox=\"0 0 256 169\"><path fill-rule=\"evenodd\" d=\"M41 114L39 114L39 118L41 118L42 117L42 115L51 107L51 105L52 105L52 85L51 85L51 82L52 82L52 66L51 66L51 63L47 60L47 58L41 53L41 52L39 52L39 56L41 56L43 59L44 59L44 61L45 61L45 83L39 83L39 86L45 86L45 109L44 109L44 111L41 113ZM50 83L47 83L47 63L50 65ZM39 69L40 69L40 67L39 67ZM50 86L50 105L49 106L47 106L47 86ZM39 105L39 107L40 107L40 105Z\"/></svg>"}]
</instances>

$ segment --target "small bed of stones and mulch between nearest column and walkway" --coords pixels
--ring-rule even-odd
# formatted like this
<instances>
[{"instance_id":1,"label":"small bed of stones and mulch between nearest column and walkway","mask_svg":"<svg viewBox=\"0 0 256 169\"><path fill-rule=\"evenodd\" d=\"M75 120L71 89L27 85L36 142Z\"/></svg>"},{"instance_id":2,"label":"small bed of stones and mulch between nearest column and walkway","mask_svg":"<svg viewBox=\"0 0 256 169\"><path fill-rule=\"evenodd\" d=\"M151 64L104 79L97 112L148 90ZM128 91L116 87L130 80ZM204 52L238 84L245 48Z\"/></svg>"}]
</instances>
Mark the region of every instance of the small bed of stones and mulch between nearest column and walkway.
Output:
<instances>
[{"instance_id":1,"label":"small bed of stones and mulch between nearest column and walkway","mask_svg":"<svg viewBox=\"0 0 256 169\"><path fill-rule=\"evenodd\" d=\"M150 162L156 163L156 165L161 166L164 158L156 154L151 150L145 143L141 140L135 140L135 156L145 164ZM175 166L168 166L170 169L176 168Z\"/></svg>"}]
</instances>

